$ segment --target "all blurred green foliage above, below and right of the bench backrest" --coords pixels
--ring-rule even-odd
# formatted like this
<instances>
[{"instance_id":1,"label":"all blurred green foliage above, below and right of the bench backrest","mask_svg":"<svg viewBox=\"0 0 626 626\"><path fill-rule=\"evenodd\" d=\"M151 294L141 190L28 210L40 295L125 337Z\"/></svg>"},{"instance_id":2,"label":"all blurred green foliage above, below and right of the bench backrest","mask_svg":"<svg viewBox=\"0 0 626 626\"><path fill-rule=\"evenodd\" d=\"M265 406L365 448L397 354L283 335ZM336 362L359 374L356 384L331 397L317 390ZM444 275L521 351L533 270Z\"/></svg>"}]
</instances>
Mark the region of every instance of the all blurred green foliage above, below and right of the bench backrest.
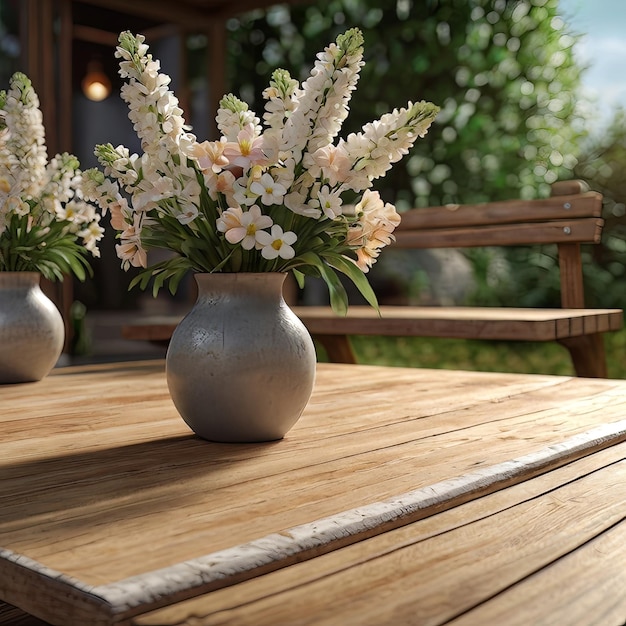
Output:
<instances>
[{"instance_id":1,"label":"all blurred green foliage above, below and right of the bench backrest","mask_svg":"<svg viewBox=\"0 0 626 626\"><path fill-rule=\"evenodd\" d=\"M442 107L429 134L377 188L399 210L548 195L581 178L605 196L601 245L583 250L588 306L626 308L626 113L595 139L577 109L579 39L558 0L319 0L228 23L233 89L252 94L275 67L302 77L328 34L364 33L366 66L346 131L396 102ZM384 254L384 252L383 252ZM468 252L471 304L559 306L552 246ZM419 276L416 269L416 276Z\"/></svg>"}]
</instances>

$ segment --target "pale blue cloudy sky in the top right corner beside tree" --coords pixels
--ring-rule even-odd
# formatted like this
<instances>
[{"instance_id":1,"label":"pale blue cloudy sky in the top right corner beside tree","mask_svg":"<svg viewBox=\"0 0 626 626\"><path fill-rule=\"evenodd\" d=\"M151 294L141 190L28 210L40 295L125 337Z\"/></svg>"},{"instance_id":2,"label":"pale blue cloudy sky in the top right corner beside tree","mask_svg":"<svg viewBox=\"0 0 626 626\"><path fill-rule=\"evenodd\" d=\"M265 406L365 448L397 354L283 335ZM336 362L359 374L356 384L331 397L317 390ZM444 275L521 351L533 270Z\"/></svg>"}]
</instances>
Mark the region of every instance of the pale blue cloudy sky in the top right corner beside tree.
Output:
<instances>
[{"instance_id":1,"label":"pale blue cloudy sky in the top right corner beside tree","mask_svg":"<svg viewBox=\"0 0 626 626\"><path fill-rule=\"evenodd\" d=\"M560 13L581 34L578 60L585 91L596 98L600 119L610 121L616 106L626 108L626 0L560 0Z\"/></svg>"}]
</instances>

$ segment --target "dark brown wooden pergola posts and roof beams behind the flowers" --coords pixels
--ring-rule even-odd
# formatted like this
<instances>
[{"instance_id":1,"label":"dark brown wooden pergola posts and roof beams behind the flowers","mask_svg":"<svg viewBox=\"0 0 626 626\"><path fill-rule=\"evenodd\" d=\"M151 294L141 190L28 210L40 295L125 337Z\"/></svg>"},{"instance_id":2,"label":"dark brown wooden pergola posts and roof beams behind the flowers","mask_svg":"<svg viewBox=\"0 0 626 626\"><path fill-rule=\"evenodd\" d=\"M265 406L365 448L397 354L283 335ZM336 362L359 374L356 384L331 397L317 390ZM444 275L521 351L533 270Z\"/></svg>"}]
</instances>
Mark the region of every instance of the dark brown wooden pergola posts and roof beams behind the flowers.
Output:
<instances>
[{"instance_id":1,"label":"dark brown wooden pergola posts and roof beams behind the flowers","mask_svg":"<svg viewBox=\"0 0 626 626\"><path fill-rule=\"evenodd\" d=\"M46 126L49 154L72 152L73 96L94 49L106 51L108 74L117 76L113 50L122 30L141 32L150 41L178 35L181 87L177 96L183 109L187 86L185 35L203 34L207 40L207 111L218 108L226 85L226 22L247 11L306 0L19 0L20 69L32 80L39 95ZM310 0L309 0L310 1ZM215 132L213 118L206 120L208 135ZM46 284L46 292L64 314L71 334L69 308L72 281Z\"/></svg>"}]
</instances>

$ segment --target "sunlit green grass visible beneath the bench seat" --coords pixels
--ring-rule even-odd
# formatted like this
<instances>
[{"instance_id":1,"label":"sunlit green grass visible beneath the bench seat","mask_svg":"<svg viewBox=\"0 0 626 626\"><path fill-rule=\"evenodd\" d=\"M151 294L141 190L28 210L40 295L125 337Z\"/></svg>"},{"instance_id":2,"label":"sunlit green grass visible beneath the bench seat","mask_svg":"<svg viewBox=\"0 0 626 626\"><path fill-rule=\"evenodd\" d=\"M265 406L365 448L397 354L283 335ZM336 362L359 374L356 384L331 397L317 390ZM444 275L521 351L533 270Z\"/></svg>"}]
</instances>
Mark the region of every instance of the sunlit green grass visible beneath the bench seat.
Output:
<instances>
[{"instance_id":1,"label":"sunlit green grass visible beneath the bench seat","mask_svg":"<svg viewBox=\"0 0 626 626\"><path fill-rule=\"evenodd\" d=\"M609 378L626 379L626 329L604 337ZM574 375L569 353L554 342L358 336L352 346L358 362L370 365Z\"/></svg>"}]
</instances>

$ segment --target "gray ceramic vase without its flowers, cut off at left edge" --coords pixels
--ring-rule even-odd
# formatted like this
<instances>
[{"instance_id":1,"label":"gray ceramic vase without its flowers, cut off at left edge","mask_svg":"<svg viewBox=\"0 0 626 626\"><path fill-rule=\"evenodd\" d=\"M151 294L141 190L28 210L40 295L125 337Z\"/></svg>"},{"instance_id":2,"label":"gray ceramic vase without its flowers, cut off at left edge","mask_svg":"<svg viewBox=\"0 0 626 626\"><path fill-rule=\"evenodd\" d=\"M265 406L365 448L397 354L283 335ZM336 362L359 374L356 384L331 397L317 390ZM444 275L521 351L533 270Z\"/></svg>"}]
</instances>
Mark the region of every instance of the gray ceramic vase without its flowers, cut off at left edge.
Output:
<instances>
[{"instance_id":1,"label":"gray ceramic vase without its flowers, cut off at left edge","mask_svg":"<svg viewBox=\"0 0 626 626\"><path fill-rule=\"evenodd\" d=\"M65 326L37 272L0 272L0 383L44 378L63 351Z\"/></svg>"}]
</instances>

